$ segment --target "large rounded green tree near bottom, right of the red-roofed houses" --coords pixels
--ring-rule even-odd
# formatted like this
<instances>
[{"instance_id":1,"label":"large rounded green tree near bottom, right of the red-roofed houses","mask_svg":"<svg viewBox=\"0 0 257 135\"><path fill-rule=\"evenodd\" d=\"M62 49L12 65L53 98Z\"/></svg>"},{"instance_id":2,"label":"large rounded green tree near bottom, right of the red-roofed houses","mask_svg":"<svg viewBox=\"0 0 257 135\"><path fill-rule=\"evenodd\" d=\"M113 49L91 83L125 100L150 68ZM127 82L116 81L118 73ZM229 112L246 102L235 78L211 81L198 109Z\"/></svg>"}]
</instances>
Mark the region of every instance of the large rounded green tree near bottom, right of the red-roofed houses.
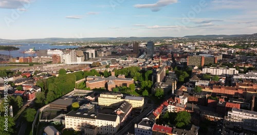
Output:
<instances>
[{"instance_id":1,"label":"large rounded green tree near bottom, right of the red-roofed houses","mask_svg":"<svg viewBox=\"0 0 257 135\"><path fill-rule=\"evenodd\" d=\"M175 118L176 127L181 128L190 124L191 115L187 111L179 111Z\"/></svg>"}]
</instances>

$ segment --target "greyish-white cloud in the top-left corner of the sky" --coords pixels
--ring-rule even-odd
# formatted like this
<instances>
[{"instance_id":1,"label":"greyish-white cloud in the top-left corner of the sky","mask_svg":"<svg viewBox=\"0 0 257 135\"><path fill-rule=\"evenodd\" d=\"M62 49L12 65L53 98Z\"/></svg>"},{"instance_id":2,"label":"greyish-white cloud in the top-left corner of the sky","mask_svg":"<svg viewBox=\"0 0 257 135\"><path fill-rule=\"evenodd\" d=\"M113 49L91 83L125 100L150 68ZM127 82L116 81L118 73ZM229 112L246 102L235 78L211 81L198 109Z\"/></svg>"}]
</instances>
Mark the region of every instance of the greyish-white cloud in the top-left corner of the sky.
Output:
<instances>
[{"instance_id":1,"label":"greyish-white cloud in the top-left corner of the sky","mask_svg":"<svg viewBox=\"0 0 257 135\"><path fill-rule=\"evenodd\" d=\"M25 4L29 4L34 0L0 0L0 8L5 9L18 9L24 7Z\"/></svg>"}]
</instances>

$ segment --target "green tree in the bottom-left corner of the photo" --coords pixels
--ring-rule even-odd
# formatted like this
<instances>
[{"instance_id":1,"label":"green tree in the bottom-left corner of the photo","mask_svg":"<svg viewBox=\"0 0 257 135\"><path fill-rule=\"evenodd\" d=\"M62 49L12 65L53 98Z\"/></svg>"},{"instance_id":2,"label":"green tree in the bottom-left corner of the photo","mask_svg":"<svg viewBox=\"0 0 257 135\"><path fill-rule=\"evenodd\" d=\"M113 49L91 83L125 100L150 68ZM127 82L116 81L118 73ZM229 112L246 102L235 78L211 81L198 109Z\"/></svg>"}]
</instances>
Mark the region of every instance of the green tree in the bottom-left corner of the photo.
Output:
<instances>
[{"instance_id":1,"label":"green tree in the bottom-left corner of the photo","mask_svg":"<svg viewBox=\"0 0 257 135\"><path fill-rule=\"evenodd\" d=\"M8 119L8 122L6 122L6 118ZM15 130L14 130L15 129L14 128L15 123L14 123L14 119L12 117L10 117L10 116L8 116L8 117L0 116L0 123L2 123L1 126L0 126L0 132L1 132L2 135L15 134ZM8 131L5 130L6 127L4 125L6 123L8 125Z\"/></svg>"}]
</instances>

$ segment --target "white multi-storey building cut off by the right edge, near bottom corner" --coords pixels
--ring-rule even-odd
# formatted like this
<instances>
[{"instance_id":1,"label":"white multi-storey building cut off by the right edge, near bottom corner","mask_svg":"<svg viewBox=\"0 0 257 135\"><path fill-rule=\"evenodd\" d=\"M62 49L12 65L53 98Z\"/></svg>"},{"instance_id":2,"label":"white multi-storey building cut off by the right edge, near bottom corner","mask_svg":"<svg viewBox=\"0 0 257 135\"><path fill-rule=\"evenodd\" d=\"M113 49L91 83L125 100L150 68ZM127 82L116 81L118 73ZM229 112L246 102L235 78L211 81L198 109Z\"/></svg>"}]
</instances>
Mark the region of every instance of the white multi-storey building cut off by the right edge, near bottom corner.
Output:
<instances>
[{"instance_id":1,"label":"white multi-storey building cut off by the right edge, near bottom corner","mask_svg":"<svg viewBox=\"0 0 257 135\"><path fill-rule=\"evenodd\" d=\"M255 111L232 108L228 111L227 121L232 125L257 131L257 112Z\"/></svg>"}]
</instances>

